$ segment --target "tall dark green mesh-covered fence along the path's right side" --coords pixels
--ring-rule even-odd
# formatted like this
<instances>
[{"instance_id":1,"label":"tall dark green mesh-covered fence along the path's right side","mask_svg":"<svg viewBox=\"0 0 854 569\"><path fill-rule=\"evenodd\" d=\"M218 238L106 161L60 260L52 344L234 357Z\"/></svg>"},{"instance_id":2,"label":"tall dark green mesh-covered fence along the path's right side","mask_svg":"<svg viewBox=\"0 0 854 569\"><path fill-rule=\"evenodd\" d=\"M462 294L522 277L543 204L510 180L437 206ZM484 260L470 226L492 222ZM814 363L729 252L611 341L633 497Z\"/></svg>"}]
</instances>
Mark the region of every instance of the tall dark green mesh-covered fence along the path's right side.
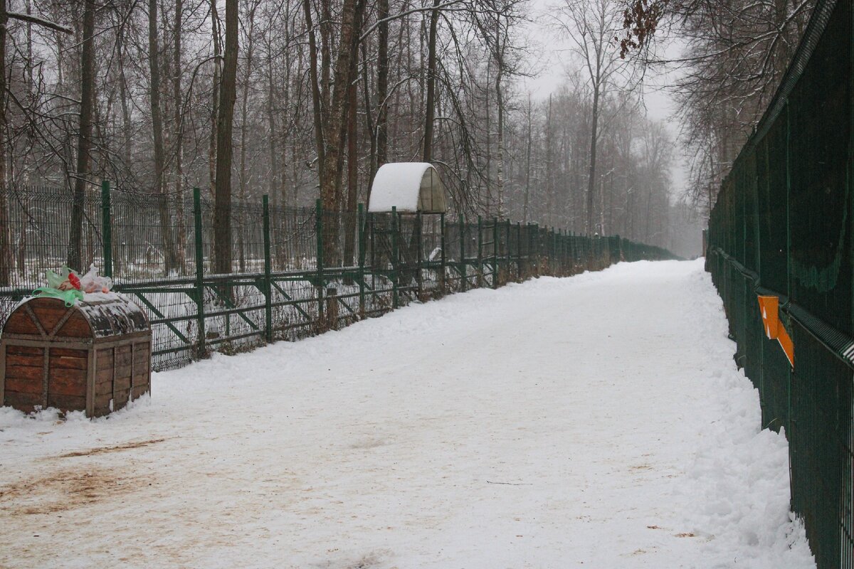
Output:
<instances>
[{"instance_id":1,"label":"tall dark green mesh-covered fence along the path's right side","mask_svg":"<svg viewBox=\"0 0 854 569\"><path fill-rule=\"evenodd\" d=\"M792 508L819 569L854 567L852 32L851 0L818 3L722 184L706 255L763 427L789 440ZM760 295L779 299L778 315L760 311ZM764 328L778 316L793 364Z\"/></svg>"}]
</instances>

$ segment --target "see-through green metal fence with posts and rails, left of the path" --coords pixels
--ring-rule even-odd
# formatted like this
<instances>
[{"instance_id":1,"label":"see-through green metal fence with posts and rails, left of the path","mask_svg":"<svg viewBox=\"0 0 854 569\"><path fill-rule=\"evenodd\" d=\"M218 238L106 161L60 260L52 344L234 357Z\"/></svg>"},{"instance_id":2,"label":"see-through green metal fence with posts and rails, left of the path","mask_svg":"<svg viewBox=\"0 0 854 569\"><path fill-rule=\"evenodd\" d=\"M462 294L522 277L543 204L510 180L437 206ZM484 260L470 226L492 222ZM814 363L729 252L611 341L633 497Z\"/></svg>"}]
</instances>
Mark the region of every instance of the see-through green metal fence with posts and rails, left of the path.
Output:
<instances>
[{"instance_id":1,"label":"see-through green metal fence with posts and rails, left of the path","mask_svg":"<svg viewBox=\"0 0 854 569\"><path fill-rule=\"evenodd\" d=\"M260 203L232 206L231 273L213 273L213 205L109 189L85 202L83 258L143 306L155 369L211 351L295 340L380 316L413 301L530 276L571 275L618 260L670 258L658 247L590 238L506 220L325 212ZM67 258L71 196L7 195L14 257L0 287L0 325ZM85 270L86 267L80 269Z\"/></svg>"}]
</instances>

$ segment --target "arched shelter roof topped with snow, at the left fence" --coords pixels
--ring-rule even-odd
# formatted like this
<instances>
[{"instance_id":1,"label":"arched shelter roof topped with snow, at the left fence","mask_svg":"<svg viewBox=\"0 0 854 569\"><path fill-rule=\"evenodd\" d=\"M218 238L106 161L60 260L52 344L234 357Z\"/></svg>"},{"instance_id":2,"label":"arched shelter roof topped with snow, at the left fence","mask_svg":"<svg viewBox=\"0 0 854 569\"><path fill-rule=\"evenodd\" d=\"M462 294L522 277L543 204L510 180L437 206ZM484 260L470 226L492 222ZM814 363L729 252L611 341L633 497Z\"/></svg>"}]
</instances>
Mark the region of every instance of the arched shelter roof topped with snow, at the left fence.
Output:
<instances>
[{"instance_id":1,"label":"arched shelter roof topped with snow, at the left fence","mask_svg":"<svg viewBox=\"0 0 854 569\"><path fill-rule=\"evenodd\" d=\"M444 213L445 185L427 162L383 164L371 186L368 212Z\"/></svg>"}]
</instances>

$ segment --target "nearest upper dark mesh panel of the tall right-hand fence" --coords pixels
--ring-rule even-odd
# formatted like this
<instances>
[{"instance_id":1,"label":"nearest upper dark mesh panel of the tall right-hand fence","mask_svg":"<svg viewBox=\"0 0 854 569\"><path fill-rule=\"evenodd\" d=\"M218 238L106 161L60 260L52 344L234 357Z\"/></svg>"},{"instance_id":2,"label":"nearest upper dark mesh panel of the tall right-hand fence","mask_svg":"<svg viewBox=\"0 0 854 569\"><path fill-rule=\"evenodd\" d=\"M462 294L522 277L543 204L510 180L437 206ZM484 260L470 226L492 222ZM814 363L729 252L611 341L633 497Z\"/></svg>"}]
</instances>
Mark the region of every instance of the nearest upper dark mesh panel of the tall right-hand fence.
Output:
<instances>
[{"instance_id":1,"label":"nearest upper dark mesh panel of the tall right-hand fence","mask_svg":"<svg viewBox=\"0 0 854 569\"><path fill-rule=\"evenodd\" d=\"M789 96L792 299L851 334L851 4L840 2ZM845 65L845 67L842 67ZM821 112L816 113L818 102Z\"/></svg>"}]
</instances>

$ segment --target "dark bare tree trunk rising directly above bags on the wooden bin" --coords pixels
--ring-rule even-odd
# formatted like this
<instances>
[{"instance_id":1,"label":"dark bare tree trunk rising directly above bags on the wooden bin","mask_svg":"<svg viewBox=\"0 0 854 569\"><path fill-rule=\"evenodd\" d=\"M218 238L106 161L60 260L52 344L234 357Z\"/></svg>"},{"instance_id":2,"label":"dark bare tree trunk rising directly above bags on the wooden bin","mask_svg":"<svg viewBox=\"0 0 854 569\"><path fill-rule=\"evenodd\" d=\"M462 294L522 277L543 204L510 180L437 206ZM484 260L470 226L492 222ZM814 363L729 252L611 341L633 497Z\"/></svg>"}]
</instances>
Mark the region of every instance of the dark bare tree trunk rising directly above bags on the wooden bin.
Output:
<instances>
[{"instance_id":1,"label":"dark bare tree trunk rising directly above bags on the wooden bin","mask_svg":"<svg viewBox=\"0 0 854 569\"><path fill-rule=\"evenodd\" d=\"M92 107L95 104L95 0L85 0L83 11L83 49L80 55L80 119L77 135L77 174L68 232L67 265L82 270L83 208L86 182L91 169Z\"/></svg>"}]
</instances>

